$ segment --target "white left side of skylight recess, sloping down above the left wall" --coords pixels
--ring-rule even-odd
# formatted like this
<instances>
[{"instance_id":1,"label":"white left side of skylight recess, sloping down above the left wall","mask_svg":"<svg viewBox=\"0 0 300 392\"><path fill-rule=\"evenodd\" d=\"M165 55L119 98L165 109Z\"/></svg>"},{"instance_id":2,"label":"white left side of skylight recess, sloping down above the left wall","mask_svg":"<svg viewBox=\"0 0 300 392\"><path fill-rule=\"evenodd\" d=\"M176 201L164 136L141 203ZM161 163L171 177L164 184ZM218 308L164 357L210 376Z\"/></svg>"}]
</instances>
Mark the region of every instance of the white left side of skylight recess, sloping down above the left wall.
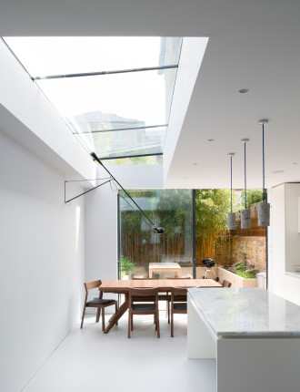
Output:
<instances>
[{"instance_id":1,"label":"white left side of skylight recess, sloping down above the left wall","mask_svg":"<svg viewBox=\"0 0 300 392\"><path fill-rule=\"evenodd\" d=\"M95 164L0 40L0 129L56 170L92 179Z\"/></svg>"}]
</instances>

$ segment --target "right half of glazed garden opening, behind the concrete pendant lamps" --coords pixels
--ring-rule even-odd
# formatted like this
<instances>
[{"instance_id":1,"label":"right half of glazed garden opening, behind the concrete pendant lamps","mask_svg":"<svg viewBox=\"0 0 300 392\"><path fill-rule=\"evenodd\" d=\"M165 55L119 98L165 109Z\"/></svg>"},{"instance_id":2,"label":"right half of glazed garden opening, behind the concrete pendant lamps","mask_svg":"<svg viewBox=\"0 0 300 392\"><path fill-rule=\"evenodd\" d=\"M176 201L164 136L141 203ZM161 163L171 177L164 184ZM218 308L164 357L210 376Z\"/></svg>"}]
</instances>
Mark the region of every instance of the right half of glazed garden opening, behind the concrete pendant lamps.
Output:
<instances>
[{"instance_id":1,"label":"right half of glazed garden opening, behind the concrete pendant lamps","mask_svg":"<svg viewBox=\"0 0 300 392\"><path fill-rule=\"evenodd\" d=\"M202 260L213 258L218 267L225 267L245 279L255 279L256 273L266 270L266 228L258 226L258 203L263 191L247 190L247 208L251 212L251 228L241 229L240 211L245 209L245 191L233 191L233 212L236 230L227 230L230 211L230 190L196 190L196 276L202 278ZM216 275L220 271L215 271ZM209 273L208 277L214 277Z\"/></svg>"}]
</instances>

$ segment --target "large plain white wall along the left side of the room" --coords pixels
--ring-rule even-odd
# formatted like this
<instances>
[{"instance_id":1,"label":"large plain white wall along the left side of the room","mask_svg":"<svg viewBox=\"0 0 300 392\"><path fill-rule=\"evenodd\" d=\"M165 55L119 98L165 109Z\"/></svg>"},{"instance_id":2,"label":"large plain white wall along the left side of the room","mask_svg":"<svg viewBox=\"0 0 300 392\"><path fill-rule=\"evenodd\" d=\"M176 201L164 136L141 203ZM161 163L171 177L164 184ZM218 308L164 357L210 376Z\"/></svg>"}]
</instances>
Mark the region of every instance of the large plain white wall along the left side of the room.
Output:
<instances>
[{"instance_id":1,"label":"large plain white wall along the left side of the room","mask_svg":"<svg viewBox=\"0 0 300 392\"><path fill-rule=\"evenodd\" d=\"M1 131L0 180L0 390L19 392L79 318L84 199Z\"/></svg>"}]
</instances>

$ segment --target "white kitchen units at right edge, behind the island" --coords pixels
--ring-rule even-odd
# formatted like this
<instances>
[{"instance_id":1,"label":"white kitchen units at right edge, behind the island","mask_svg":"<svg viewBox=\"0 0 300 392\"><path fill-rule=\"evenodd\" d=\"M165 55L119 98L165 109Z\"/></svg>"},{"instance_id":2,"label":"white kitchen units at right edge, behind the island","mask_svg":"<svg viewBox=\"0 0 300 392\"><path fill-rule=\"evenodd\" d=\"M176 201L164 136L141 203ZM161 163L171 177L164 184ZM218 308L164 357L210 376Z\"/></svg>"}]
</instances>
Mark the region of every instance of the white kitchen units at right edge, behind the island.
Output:
<instances>
[{"instance_id":1,"label":"white kitchen units at right edge, behind the island","mask_svg":"<svg viewBox=\"0 0 300 392\"><path fill-rule=\"evenodd\" d=\"M269 192L271 228L269 231L269 290L300 305L300 277L286 274L300 264L298 233L299 183L285 183Z\"/></svg>"}]
</instances>

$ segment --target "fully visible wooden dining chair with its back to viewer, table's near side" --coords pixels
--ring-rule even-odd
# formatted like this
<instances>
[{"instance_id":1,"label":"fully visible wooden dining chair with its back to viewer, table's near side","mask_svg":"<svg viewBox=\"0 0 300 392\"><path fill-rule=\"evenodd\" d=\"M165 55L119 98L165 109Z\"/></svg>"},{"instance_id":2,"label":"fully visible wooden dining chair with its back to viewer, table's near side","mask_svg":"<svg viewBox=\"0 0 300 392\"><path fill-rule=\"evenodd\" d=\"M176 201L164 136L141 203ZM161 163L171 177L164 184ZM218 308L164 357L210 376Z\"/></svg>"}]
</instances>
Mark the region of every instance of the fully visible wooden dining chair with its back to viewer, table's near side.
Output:
<instances>
[{"instance_id":1,"label":"fully visible wooden dining chair with its back to viewer, table's near side","mask_svg":"<svg viewBox=\"0 0 300 392\"><path fill-rule=\"evenodd\" d=\"M153 304L145 304L145 298L147 302L152 301ZM129 288L128 338L134 329L134 315L154 315L155 330L157 337L160 337L157 288Z\"/></svg>"}]
</instances>

